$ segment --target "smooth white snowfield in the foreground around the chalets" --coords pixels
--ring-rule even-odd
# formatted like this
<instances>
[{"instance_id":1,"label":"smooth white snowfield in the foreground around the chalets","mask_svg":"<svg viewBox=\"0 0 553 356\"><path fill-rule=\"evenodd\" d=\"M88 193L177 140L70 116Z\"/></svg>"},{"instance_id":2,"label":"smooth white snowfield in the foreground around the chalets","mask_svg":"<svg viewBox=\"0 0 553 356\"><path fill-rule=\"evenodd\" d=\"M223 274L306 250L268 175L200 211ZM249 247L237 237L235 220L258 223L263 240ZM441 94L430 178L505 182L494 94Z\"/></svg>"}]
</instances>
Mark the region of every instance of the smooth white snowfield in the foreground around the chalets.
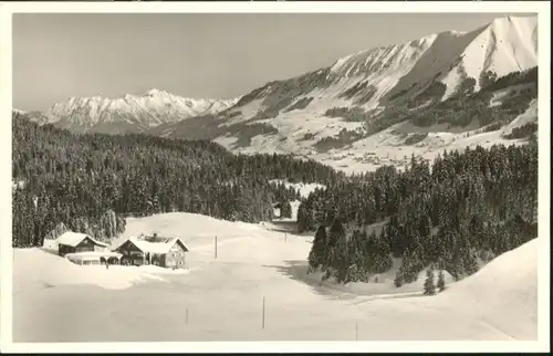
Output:
<instances>
[{"instance_id":1,"label":"smooth white snowfield in the foreground around the chalets","mask_svg":"<svg viewBox=\"0 0 553 356\"><path fill-rule=\"evenodd\" d=\"M262 224L168 213L128 219L125 234L137 231L181 237L189 270L95 269L15 249L14 342L536 339L536 240L419 296L419 284L398 291L385 278L319 285L305 237Z\"/></svg>"}]
</instances>

